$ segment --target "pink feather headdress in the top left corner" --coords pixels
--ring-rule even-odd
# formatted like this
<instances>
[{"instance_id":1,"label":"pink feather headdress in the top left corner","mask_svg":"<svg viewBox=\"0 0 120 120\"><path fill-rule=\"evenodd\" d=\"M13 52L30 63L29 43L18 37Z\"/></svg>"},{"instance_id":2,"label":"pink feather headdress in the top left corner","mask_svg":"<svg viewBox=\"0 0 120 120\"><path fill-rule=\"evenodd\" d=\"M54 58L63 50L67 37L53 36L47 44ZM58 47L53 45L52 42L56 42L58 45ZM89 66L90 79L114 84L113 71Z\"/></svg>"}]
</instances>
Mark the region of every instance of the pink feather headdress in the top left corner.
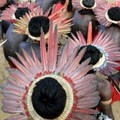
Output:
<instances>
[{"instance_id":1,"label":"pink feather headdress in the top left corner","mask_svg":"<svg viewBox=\"0 0 120 120\"><path fill-rule=\"evenodd\" d=\"M28 8L28 10L32 11L36 7L37 4L35 3L29 4L29 2L22 3L19 2L18 4L12 4L2 12L1 19L15 22L16 21L15 12L18 8Z\"/></svg>"}]
</instances>

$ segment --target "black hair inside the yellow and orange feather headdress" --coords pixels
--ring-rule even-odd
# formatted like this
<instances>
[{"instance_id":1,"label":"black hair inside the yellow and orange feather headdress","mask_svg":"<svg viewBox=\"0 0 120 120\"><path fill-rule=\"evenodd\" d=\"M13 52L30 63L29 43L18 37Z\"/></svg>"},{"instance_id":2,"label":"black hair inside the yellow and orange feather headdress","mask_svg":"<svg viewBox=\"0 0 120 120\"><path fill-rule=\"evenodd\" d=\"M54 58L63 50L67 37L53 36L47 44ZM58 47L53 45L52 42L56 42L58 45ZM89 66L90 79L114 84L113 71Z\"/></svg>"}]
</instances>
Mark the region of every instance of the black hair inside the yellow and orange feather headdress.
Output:
<instances>
[{"instance_id":1,"label":"black hair inside the yellow and orange feather headdress","mask_svg":"<svg viewBox=\"0 0 120 120\"><path fill-rule=\"evenodd\" d=\"M50 20L45 16L33 17L28 24L29 33L34 37L40 37L41 28L44 34L49 31L49 23Z\"/></svg>"}]
</instances>

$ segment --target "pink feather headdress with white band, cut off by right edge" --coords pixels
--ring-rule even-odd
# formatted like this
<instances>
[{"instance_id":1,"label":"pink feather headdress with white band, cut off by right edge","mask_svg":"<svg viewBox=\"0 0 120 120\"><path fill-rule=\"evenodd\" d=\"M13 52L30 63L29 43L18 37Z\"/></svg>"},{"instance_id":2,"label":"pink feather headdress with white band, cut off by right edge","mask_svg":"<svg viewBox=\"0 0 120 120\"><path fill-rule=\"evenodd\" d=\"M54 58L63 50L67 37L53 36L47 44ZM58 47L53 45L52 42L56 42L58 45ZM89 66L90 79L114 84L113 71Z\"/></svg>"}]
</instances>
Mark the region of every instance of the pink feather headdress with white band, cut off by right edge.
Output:
<instances>
[{"instance_id":1,"label":"pink feather headdress with white band, cut off by right edge","mask_svg":"<svg viewBox=\"0 0 120 120\"><path fill-rule=\"evenodd\" d=\"M120 10L113 11L113 18L110 18L109 12L113 8L120 9L120 1L115 2L108 2L106 4L103 4L102 6L95 9L95 14L97 20L104 26L109 27L111 24L117 24L120 25L120 13L118 13ZM117 15L116 15L117 14ZM119 20L114 20L114 16L118 17Z\"/></svg>"}]
</instances>

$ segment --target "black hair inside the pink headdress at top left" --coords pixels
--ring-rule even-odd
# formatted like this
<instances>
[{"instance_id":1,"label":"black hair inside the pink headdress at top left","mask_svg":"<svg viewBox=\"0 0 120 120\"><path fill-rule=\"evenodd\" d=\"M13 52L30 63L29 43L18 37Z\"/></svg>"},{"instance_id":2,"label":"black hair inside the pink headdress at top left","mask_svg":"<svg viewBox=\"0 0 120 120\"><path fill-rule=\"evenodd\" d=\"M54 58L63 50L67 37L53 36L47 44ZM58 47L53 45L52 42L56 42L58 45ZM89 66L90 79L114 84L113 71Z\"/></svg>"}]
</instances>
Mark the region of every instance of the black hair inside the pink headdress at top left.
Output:
<instances>
[{"instance_id":1,"label":"black hair inside the pink headdress at top left","mask_svg":"<svg viewBox=\"0 0 120 120\"><path fill-rule=\"evenodd\" d=\"M23 17L23 15L25 15L26 13L29 13L30 9L28 9L27 7L25 8L17 8L17 10L15 11L15 17L17 19L20 19L20 17Z\"/></svg>"}]
</instances>

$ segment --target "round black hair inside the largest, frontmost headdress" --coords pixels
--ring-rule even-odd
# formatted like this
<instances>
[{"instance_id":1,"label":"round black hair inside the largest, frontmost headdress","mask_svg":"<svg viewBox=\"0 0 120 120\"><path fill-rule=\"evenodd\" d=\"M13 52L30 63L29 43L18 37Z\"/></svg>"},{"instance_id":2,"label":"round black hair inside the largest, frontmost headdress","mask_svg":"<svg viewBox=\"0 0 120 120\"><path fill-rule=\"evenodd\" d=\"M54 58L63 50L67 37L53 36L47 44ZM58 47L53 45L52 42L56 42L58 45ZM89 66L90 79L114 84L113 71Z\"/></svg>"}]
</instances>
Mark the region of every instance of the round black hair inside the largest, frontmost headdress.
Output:
<instances>
[{"instance_id":1,"label":"round black hair inside the largest, frontmost headdress","mask_svg":"<svg viewBox=\"0 0 120 120\"><path fill-rule=\"evenodd\" d=\"M59 117L66 104L66 92L62 86L51 77L46 77L36 83L32 94L35 111L45 119Z\"/></svg>"}]
</instances>

